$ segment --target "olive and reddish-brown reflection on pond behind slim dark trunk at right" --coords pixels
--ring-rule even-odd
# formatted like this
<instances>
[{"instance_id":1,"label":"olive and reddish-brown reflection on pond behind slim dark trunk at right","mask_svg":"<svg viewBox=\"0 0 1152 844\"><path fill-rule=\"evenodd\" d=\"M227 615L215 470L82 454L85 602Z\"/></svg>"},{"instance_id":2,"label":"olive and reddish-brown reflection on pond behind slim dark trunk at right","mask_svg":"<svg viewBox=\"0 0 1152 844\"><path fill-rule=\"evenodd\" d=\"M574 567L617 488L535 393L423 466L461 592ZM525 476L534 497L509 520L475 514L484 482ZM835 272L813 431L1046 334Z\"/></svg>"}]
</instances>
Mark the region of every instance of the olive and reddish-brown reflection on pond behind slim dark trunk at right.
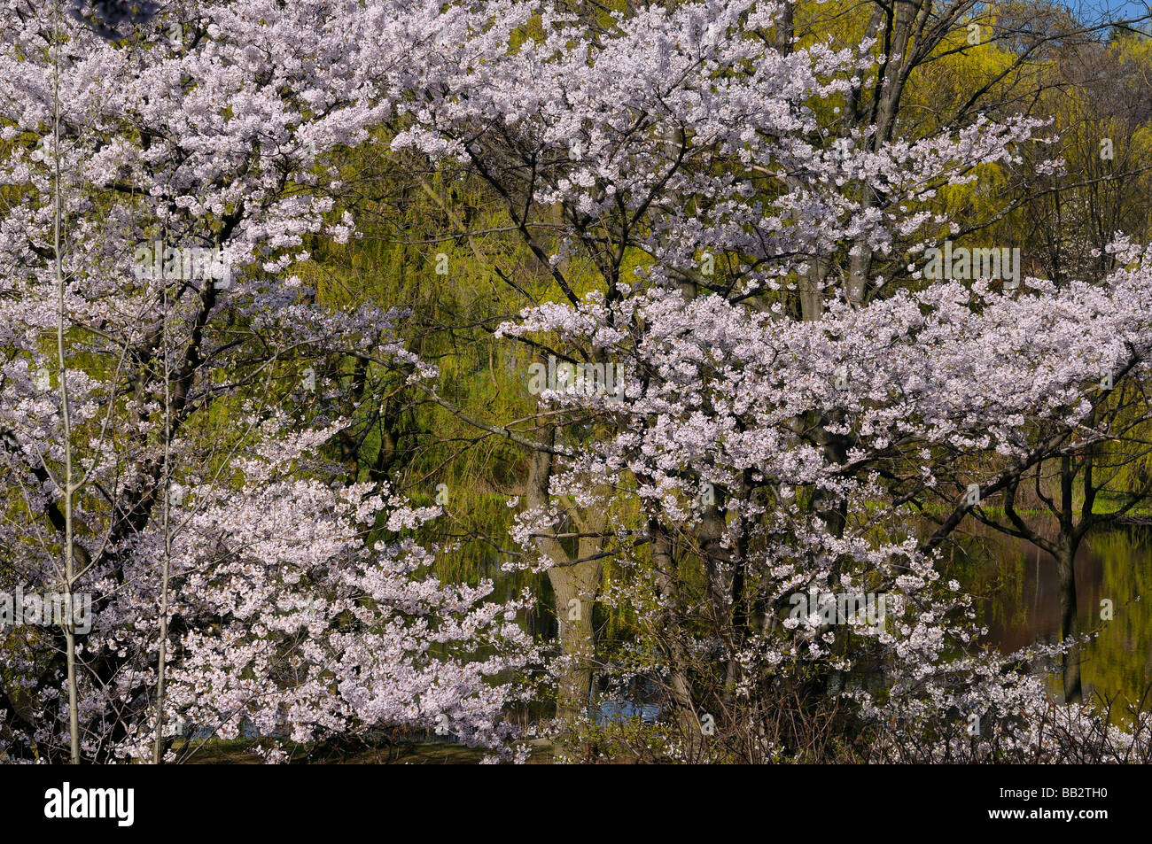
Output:
<instances>
[{"instance_id":1,"label":"olive and reddish-brown reflection on pond behind slim dark trunk at right","mask_svg":"<svg viewBox=\"0 0 1152 844\"><path fill-rule=\"evenodd\" d=\"M1053 522L1051 535L1055 534ZM1059 580L1048 554L982 529L961 542L952 561L967 573L987 638L1001 652L1060 640ZM1082 657L1085 702L1097 692L1122 702L1139 701L1152 683L1152 529L1089 534L1076 556L1076 598L1081 630L1098 633ZM1112 601L1111 621L1101 618L1105 600ZM1060 693L1059 682L1052 687Z\"/></svg>"}]
</instances>

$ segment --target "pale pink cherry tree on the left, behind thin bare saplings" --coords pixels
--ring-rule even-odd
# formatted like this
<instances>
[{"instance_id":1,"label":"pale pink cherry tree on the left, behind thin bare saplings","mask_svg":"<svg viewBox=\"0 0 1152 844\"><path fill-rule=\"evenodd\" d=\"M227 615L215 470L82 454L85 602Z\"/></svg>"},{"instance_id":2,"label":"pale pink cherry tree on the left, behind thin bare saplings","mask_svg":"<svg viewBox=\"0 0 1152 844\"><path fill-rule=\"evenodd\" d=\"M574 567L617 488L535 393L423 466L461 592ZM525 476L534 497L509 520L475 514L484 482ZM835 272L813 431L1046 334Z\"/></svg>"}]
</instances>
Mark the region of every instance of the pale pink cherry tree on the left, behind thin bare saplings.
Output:
<instances>
[{"instance_id":1,"label":"pale pink cherry tree on the left, behind thin bare saplings","mask_svg":"<svg viewBox=\"0 0 1152 844\"><path fill-rule=\"evenodd\" d=\"M273 760L397 725L503 752L517 602L441 584L435 511L324 456L325 360L434 370L402 314L293 272L351 233L323 158L389 113L369 71L410 46L401 7L106 7L0 13L2 576L93 602L5 633L0 750L173 760L184 724Z\"/></svg>"}]
</instances>

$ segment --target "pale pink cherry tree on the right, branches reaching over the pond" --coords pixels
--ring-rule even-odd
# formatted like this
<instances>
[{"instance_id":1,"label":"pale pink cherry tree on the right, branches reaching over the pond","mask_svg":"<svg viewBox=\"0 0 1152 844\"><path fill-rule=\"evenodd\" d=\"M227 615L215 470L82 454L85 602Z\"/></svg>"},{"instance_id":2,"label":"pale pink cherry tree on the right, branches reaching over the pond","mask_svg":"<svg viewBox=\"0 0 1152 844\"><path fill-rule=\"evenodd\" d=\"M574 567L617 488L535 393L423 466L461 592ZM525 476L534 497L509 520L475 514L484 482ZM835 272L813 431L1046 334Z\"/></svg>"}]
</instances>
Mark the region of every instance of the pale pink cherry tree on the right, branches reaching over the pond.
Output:
<instances>
[{"instance_id":1,"label":"pale pink cherry tree on the right, branches reaching over the pond","mask_svg":"<svg viewBox=\"0 0 1152 844\"><path fill-rule=\"evenodd\" d=\"M925 250L956 230L932 210L938 191L1018 162L1038 123L972 115L916 142L874 127L836 138L821 115L854 90L870 45L778 50L765 37L778 12L650 7L593 37L543 7L501 61L488 39L526 14L441 41L416 70L439 84L401 106L410 126L393 146L473 168L555 286L500 335L563 349L570 371L628 373L622 394L586 380L541 394L524 564L553 577L561 618L598 598L636 610L644 637L621 672L664 678L674 755L819 756L847 720L882 736L881 754L900 735L885 724L900 723L939 738L925 758L1055 758L1037 732L1043 685L1002 670L1038 654L979 654L933 553L982 495L1113 435L1093 425L1093 390L1101 367L1144 372L1146 257L1117 245L1124 269L1100 287L924 279ZM863 303L859 284L885 279L861 279L862 248L903 256L922 289ZM575 259L592 269L577 275ZM820 279L844 271L818 320L790 307L812 261ZM909 502L960 469L940 530L911 535ZM573 512L600 520L564 532ZM559 542L573 535L600 546L573 554ZM888 594L887 622L785 619L809 590ZM596 659L581 633L559 669L569 712ZM789 707L808 710L806 733L781 720ZM969 715L1007 738L972 743ZM1097 735L1087 710L1061 717ZM814 735L823 718L840 731ZM718 723L725 742L702 742Z\"/></svg>"}]
</instances>

